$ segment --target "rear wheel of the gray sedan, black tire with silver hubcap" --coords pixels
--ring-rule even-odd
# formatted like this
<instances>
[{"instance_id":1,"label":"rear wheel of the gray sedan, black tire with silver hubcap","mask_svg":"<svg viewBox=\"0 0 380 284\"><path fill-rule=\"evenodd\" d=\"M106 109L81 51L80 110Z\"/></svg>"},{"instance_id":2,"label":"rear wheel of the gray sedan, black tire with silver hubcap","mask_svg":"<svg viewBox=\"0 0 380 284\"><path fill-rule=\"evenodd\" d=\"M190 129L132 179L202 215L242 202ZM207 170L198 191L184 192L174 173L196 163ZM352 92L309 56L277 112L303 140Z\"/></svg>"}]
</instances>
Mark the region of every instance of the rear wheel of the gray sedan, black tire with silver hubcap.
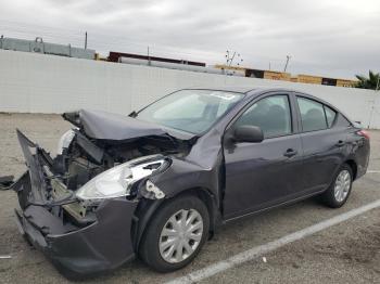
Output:
<instances>
[{"instance_id":1,"label":"rear wheel of the gray sedan, black tire with silver hubcap","mask_svg":"<svg viewBox=\"0 0 380 284\"><path fill-rule=\"evenodd\" d=\"M322 202L331 208L342 207L351 194L352 182L352 168L344 164L334 176L329 189L321 194Z\"/></svg>"}]
</instances>

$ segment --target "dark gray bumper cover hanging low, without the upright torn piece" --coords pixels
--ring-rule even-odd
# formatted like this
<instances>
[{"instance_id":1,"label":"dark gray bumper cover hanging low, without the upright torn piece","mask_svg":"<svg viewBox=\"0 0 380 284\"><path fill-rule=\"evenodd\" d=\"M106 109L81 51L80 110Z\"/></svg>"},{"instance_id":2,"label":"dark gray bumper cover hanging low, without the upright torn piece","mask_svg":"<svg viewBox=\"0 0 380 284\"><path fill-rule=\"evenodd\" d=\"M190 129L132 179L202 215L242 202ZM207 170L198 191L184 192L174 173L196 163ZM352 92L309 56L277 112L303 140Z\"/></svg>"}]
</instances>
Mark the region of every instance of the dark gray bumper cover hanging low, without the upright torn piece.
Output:
<instances>
[{"instance_id":1,"label":"dark gray bumper cover hanging low, without the upright torn piece","mask_svg":"<svg viewBox=\"0 0 380 284\"><path fill-rule=\"evenodd\" d=\"M135 208L136 204L127 201L106 202L98 209L94 223L71 232L39 206L16 211L16 222L21 233L62 274L77 277L115 269L135 257L129 218Z\"/></svg>"}]
</instances>

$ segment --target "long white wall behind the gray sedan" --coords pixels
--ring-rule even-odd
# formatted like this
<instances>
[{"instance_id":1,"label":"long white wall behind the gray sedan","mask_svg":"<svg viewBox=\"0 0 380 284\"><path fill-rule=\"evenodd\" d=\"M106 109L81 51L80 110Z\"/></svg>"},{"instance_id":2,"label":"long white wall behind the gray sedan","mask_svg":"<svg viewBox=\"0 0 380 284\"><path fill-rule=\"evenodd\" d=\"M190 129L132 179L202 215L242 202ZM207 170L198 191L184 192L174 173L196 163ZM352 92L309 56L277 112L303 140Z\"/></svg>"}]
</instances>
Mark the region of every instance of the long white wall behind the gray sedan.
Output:
<instances>
[{"instance_id":1,"label":"long white wall behind the gray sedan","mask_svg":"<svg viewBox=\"0 0 380 284\"><path fill-rule=\"evenodd\" d=\"M226 77L0 50L0 112L63 113L83 107L127 114L176 89L199 86L284 87L319 96L380 129L380 92Z\"/></svg>"}]
</instances>

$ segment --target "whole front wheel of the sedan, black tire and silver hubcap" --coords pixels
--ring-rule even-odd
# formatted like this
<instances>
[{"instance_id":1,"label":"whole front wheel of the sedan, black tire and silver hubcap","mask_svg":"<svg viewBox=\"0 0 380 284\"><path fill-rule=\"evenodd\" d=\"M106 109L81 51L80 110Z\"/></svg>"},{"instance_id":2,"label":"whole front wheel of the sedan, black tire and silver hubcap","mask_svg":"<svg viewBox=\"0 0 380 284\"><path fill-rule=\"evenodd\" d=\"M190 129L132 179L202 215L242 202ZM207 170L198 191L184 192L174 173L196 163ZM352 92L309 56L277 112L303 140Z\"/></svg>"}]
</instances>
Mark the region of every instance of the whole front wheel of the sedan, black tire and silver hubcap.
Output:
<instances>
[{"instance_id":1,"label":"whole front wheel of the sedan, black tire and silver hubcap","mask_svg":"<svg viewBox=\"0 0 380 284\"><path fill-rule=\"evenodd\" d=\"M190 219L191 223L185 222ZM201 199L192 195L169 199L149 222L139 248L140 258L159 272L186 267L207 240L208 228L207 207Z\"/></svg>"}]
</instances>

